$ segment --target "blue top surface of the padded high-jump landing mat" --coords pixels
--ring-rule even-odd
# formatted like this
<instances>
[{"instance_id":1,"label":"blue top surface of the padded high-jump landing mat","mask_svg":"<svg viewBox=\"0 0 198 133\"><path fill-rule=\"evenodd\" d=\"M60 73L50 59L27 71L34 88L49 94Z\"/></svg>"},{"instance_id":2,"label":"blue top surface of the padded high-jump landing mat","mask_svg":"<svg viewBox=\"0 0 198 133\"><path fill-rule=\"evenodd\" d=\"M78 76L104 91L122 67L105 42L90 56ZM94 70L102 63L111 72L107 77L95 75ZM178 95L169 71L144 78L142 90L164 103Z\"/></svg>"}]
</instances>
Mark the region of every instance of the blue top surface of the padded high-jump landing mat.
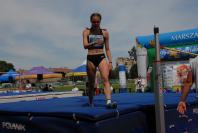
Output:
<instances>
[{"instance_id":1,"label":"blue top surface of the padded high-jump landing mat","mask_svg":"<svg viewBox=\"0 0 198 133\"><path fill-rule=\"evenodd\" d=\"M164 94L166 108L176 107L180 94ZM31 114L34 116L56 116L69 117L75 115L78 119L98 121L118 115L138 111L143 106L154 106L153 93L120 93L113 94L112 99L117 102L117 109L105 108L105 97L99 95L94 97L94 107L88 106L88 97L55 98L36 101L21 101L15 103L0 104L2 114ZM189 94L187 102L194 103L195 94Z\"/></svg>"}]
</instances>

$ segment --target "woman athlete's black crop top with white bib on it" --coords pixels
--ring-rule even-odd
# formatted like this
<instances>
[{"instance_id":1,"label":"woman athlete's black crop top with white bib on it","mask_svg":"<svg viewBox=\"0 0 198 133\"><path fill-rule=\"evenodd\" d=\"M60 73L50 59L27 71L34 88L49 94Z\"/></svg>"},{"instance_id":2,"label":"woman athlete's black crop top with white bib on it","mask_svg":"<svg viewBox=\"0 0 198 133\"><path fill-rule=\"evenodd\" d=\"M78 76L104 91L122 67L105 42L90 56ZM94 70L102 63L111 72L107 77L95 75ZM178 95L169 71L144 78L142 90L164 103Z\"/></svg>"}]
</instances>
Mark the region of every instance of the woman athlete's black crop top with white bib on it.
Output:
<instances>
[{"instance_id":1,"label":"woman athlete's black crop top with white bib on it","mask_svg":"<svg viewBox=\"0 0 198 133\"><path fill-rule=\"evenodd\" d=\"M88 43L95 42L96 40L102 40L104 42L105 38L102 33L102 29L100 29L100 33L97 33L97 34L93 33L92 29L88 29L88 30L90 30L89 35L88 35ZM103 49L103 47L104 47L104 43L99 44L99 45L95 44L89 49Z\"/></svg>"}]
</instances>

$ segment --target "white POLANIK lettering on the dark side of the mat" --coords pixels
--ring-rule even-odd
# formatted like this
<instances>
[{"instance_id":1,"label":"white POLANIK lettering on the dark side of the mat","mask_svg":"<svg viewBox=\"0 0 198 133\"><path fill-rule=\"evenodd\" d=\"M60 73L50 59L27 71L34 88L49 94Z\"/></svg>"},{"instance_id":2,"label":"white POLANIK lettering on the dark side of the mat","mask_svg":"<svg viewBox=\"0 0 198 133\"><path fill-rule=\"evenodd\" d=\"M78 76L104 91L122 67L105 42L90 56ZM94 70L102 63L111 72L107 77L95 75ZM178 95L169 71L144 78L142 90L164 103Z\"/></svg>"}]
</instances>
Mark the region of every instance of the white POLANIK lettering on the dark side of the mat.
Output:
<instances>
[{"instance_id":1,"label":"white POLANIK lettering on the dark side of the mat","mask_svg":"<svg viewBox=\"0 0 198 133\"><path fill-rule=\"evenodd\" d=\"M26 131L25 125L20 123L1 122L2 128L9 130Z\"/></svg>"}]
</instances>

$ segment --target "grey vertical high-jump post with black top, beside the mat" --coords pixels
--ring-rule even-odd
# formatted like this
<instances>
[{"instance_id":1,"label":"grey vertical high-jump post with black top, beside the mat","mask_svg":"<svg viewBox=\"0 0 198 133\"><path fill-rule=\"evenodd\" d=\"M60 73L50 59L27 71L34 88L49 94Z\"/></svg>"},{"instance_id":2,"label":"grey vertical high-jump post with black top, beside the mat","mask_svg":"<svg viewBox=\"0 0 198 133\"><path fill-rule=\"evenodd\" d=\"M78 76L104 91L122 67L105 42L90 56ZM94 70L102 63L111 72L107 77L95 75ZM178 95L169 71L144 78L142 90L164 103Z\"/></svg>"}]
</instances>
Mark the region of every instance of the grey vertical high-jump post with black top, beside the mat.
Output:
<instances>
[{"instance_id":1,"label":"grey vertical high-jump post with black top, beside the mat","mask_svg":"<svg viewBox=\"0 0 198 133\"><path fill-rule=\"evenodd\" d=\"M155 119L156 119L156 133L165 133L165 119L164 119L164 102L162 90L162 74L160 64L160 45L159 45L159 28L154 27L155 36Z\"/></svg>"}]
</instances>

